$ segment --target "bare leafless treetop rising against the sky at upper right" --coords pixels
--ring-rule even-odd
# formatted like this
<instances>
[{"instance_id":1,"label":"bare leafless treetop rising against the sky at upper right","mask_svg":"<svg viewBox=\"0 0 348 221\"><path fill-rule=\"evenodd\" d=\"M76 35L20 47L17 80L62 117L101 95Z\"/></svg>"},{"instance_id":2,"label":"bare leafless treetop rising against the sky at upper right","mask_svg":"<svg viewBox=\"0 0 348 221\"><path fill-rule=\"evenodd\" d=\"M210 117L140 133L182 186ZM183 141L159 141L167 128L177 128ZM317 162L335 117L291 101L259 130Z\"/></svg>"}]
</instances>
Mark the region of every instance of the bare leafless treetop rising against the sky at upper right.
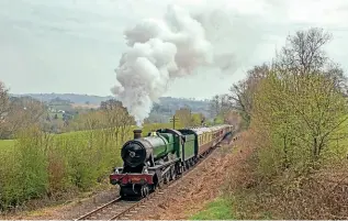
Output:
<instances>
[{"instance_id":1,"label":"bare leafless treetop rising against the sky at upper right","mask_svg":"<svg viewBox=\"0 0 348 221\"><path fill-rule=\"evenodd\" d=\"M294 78L299 75L324 75L334 80L335 86L347 93L347 78L338 64L330 60L325 46L333 35L323 29L312 27L289 35L285 46L277 54L274 67L277 71Z\"/></svg>"}]
</instances>

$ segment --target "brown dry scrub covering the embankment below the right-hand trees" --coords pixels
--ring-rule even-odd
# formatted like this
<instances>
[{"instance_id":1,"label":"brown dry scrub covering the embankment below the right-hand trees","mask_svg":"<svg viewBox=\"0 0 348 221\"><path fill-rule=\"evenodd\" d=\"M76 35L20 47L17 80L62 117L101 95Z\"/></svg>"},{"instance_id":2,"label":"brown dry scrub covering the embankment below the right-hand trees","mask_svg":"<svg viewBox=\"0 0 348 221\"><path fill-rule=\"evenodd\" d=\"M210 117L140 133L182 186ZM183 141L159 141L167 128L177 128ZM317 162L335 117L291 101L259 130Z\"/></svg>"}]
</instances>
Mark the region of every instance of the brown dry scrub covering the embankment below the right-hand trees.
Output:
<instances>
[{"instance_id":1,"label":"brown dry scrub covering the embankment below the right-hand trees","mask_svg":"<svg viewBox=\"0 0 348 221\"><path fill-rule=\"evenodd\" d=\"M348 219L348 164L306 176L266 179L257 172L257 141L251 131L232 155L225 194L237 219Z\"/></svg>"}]
</instances>

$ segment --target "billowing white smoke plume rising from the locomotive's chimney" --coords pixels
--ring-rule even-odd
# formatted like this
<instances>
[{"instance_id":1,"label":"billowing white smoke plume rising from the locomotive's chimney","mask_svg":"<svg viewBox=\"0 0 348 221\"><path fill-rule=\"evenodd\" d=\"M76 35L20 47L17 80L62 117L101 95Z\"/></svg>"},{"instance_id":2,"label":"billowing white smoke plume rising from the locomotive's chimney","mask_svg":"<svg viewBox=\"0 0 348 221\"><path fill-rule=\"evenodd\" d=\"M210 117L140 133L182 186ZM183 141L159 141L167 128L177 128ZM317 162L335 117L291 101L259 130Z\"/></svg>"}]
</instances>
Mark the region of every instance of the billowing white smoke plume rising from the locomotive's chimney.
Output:
<instances>
[{"instance_id":1,"label":"billowing white smoke plume rising from the locomotive's chimney","mask_svg":"<svg viewBox=\"0 0 348 221\"><path fill-rule=\"evenodd\" d=\"M212 36L202 19L169 5L162 20L145 20L125 31L128 49L115 69L112 92L138 126L172 79L190 75L199 66L227 69L233 65L234 55L216 52L214 41L209 41Z\"/></svg>"}]
</instances>

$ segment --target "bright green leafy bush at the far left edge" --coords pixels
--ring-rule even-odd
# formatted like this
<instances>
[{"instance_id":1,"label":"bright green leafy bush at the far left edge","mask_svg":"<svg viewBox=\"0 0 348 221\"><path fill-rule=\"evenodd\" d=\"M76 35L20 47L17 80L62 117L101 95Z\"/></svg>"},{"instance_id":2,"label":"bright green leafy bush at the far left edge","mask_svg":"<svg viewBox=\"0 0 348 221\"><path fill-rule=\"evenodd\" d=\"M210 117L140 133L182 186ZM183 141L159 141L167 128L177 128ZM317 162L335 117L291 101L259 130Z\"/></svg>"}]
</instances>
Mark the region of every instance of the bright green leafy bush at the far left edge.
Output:
<instances>
[{"instance_id":1,"label":"bright green leafy bush at the far left edge","mask_svg":"<svg viewBox=\"0 0 348 221\"><path fill-rule=\"evenodd\" d=\"M13 207L23 201L42 197L48 187L47 150L36 128L21 131L14 148L1 152L0 207Z\"/></svg>"}]
</instances>

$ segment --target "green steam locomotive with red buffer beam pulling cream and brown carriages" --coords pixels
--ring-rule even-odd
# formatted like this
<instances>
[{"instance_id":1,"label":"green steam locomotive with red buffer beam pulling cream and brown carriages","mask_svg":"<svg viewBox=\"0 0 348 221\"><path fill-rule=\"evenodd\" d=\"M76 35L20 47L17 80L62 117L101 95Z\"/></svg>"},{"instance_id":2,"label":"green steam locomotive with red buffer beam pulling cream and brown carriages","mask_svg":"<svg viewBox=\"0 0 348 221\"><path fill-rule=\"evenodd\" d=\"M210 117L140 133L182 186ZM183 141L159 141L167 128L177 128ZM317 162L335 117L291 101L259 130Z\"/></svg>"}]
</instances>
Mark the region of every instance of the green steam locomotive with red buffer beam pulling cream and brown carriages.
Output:
<instances>
[{"instance_id":1,"label":"green steam locomotive with red buffer beam pulling cream and brown carriages","mask_svg":"<svg viewBox=\"0 0 348 221\"><path fill-rule=\"evenodd\" d=\"M134 130L134 139L121 148L123 167L113 169L110 183L120 186L122 198L144 198L194 166L233 130L229 124L159 129L143 137L142 130Z\"/></svg>"}]
</instances>

